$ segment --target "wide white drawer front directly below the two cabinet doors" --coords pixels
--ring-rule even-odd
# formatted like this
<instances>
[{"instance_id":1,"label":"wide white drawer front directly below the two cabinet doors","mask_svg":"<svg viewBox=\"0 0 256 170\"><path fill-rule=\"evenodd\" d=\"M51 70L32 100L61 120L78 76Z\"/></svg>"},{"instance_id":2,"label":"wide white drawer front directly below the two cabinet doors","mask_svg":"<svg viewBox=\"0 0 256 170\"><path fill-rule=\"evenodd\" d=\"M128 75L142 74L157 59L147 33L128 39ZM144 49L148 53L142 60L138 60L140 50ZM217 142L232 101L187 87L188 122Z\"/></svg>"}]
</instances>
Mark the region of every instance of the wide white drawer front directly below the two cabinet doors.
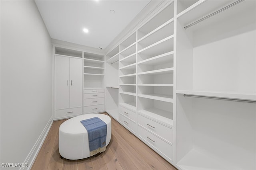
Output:
<instances>
[{"instance_id":1,"label":"wide white drawer front directly below the two cabinet doors","mask_svg":"<svg viewBox=\"0 0 256 170\"><path fill-rule=\"evenodd\" d=\"M55 119L62 118L62 117L72 117L76 115L81 115L82 113L83 113L82 107L55 110Z\"/></svg>"}]
</instances>

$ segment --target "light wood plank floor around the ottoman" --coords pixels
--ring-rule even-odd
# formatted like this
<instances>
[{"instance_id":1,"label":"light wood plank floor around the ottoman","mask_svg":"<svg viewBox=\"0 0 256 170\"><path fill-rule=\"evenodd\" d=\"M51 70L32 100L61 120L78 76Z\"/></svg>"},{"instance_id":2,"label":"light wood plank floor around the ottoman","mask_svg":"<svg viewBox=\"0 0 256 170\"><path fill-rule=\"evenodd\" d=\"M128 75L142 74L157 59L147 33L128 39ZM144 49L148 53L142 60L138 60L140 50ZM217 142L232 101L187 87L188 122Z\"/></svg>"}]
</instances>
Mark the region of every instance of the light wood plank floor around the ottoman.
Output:
<instances>
[{"instance_id":1,"label":"light wood plank floor around the ottoman","mask_svg":"<svg viewBox=\"0 0 256 170\"><path fill-rule=\"evenodd\" d=\"M106 151L82 160L60 158L58 129L65 120L54 121L31 170L176 170L115 119L111 120L112 136Z\"/></svg>"}]
</instances>

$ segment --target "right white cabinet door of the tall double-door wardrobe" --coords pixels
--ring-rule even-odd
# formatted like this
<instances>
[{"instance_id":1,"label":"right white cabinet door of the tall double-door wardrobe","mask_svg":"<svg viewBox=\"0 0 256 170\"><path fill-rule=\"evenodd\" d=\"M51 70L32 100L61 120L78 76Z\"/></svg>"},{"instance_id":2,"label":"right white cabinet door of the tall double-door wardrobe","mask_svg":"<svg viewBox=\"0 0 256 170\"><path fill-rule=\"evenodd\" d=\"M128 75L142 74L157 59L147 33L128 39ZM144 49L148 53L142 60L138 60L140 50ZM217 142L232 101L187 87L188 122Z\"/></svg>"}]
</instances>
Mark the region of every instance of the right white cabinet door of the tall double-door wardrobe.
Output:
<instances>
[{"instance_id":1,"label":"right white cabinet door of the tall double-door wardrobe","mask_svg":"<svg viewBox=\"0 0 256 170\"><path fill-rule=\"evenodd\" d=\"M82 107L82 59L70 58L70 108Z\"/></svg>"}]
</instances>

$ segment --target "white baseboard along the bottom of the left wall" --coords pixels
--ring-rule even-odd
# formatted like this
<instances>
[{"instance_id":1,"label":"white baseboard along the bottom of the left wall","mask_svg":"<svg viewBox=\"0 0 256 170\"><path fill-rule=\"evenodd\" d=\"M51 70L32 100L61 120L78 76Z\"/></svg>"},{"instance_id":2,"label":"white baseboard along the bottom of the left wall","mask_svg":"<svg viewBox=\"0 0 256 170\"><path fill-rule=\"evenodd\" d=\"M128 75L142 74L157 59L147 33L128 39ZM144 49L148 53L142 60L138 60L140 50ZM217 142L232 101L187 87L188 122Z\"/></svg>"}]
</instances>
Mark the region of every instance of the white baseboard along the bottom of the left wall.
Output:
<instances>
[{"instance_id":1,"label":"white baseboard along the bottom of the left wall","mask_svg":"<svg viewBox=\"0 0 256 170\"><path fill-rule=\"evenodd\" d=\"M39 152L39 150L41 149L44 140L46 139L46 136L48 134L48 132L50 131L50 128L52 126L52 118L50 118L50 120L48 121L48 123L46 124L46 126L44 127L44 130L42 131L41 135L38 137L35 145L33 146L33 148L30 150L28 156L26 157L26 159L24 160L24 163L27 163L28 167L23 167L20 168L20 170L30 170L32 168L32 165L36 159L36 156Z\"/></svg>"}]
</instances>

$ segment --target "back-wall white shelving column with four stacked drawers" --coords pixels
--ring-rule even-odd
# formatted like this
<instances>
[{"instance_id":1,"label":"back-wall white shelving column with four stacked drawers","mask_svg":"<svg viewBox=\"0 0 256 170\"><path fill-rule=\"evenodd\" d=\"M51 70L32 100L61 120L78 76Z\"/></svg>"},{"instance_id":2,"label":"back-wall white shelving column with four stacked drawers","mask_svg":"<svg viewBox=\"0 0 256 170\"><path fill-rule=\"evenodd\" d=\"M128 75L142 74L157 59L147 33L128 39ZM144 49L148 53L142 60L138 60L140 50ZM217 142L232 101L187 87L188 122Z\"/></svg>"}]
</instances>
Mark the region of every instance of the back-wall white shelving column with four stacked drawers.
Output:
<instances>
[{"instance_id":1,"label":"back-wall white shelving column with four stacked drawers","mask_svg":"<svg viewBox=\"0 0 256 170\"><path fill-rule=\"evenodd\" d=\"M104 55L84 52L84 113L105 110Z\"/></svg>"}]
</instances>

